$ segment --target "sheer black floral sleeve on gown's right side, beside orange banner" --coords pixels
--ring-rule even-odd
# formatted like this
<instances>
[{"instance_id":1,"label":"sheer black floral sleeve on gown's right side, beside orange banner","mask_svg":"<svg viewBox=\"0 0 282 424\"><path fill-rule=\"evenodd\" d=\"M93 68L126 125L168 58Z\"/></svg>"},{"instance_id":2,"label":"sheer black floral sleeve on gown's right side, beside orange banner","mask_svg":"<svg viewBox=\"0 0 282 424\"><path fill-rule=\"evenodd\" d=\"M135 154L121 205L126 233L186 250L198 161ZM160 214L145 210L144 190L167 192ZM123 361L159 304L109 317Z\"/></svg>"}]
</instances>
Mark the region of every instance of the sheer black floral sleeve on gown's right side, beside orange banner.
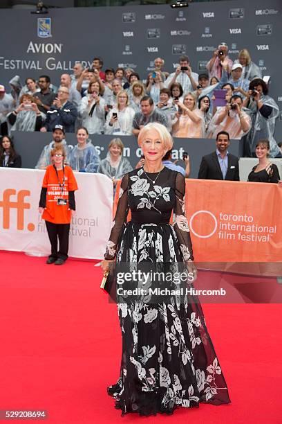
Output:
<instances>
[{"instance_id":1,"label":"sheer black floral sleeve on gown's right side, beside orange banner","mask_svg":"<svg viewBox=\"0 0 282 424\"><path fill-rule=\"evenodd\" d=\"M183 259L194 260L189 225L185 216L185 177L180 173L176 175L176 203L173 211L176 215L173 228L176 231Z\"/></svg>"}]
</instances>

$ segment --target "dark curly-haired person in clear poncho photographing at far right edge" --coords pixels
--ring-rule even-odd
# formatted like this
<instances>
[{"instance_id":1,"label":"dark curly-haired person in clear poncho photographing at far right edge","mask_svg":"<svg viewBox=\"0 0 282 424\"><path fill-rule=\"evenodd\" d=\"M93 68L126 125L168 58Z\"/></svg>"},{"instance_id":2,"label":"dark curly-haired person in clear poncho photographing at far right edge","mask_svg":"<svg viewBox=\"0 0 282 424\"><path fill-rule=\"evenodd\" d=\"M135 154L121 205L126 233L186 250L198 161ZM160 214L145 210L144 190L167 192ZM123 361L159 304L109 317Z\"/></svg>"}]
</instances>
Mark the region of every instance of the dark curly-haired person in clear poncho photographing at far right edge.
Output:
<instances>
[{"instance_id":1,"label":"dark curly-haired person in clear poncho photographing at far right edge","mask_svg":"<svg viewBox=\"0 0 282 424\"><path fill-rule=\"evenodd\" d=\"M256 144L267 139L270 141L270 157L282 157L279 145L274 139L275 121L279 107L268 94L268 87L261 78L250 82L249 91L243 101L252 120L252 129L245 137L245 157L256 157Z\"/></svg>"}]
</instances>

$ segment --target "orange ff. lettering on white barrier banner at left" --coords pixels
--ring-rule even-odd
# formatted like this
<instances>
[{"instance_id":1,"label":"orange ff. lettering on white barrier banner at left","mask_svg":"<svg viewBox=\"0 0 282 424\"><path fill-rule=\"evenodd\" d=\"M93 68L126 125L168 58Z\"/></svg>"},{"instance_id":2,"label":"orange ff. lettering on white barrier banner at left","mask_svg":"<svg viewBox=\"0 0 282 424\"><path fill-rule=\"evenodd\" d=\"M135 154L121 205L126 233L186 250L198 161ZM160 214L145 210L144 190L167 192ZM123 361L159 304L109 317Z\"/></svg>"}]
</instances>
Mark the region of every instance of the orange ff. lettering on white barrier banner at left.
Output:
<instances>
[{"instance_id":1,"label":"orange ff. lettering on white barrier banner at left","mask_svg":"<svg viewBox=\"0 0 282 424\"><path fill-rule=\"evenodd\" d=\"M11 196L17 196L16 200L11 200ZM3 211L2 227L10 229L10 210L17 209L17 229L24 228L24 210L30 209L30 203L25 202L25 197L30 196L29 190L15 191L14 188L6 188L3 191L3 200L0 200L0 208ZM30 222L27 226L28 231L34 231L35 224Z\"/></svg>"}]
</instances>

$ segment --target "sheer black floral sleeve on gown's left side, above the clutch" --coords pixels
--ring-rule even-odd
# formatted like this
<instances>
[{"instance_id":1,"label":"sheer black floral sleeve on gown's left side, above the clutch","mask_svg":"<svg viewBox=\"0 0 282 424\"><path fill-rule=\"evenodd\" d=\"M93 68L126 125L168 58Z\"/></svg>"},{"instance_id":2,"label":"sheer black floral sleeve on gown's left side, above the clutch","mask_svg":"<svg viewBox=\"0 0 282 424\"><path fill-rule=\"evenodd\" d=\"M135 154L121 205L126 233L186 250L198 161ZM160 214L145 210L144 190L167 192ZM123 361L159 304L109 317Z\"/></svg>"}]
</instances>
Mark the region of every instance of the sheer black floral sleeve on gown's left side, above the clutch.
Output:
<instances>
[{"instance_id":1,"label":"sheer black floral sleeve on gown's left side, above the clutch","mask_svg":"<svg viewBox=\"0 0 282 424\"><path fill-rule=\"evenodd\" d=\"M111 260L115 258L115 254L118 248L118 242L120 239L120 233L126 223L127 213L129 211L128 205L128 188L129 188L129 174L127 173L122 178L120 185L120 200L118 201L118 208L115 213L115 219L113 220L113 228L109 242L106 245L106 253L104 258Z\"/></svg>"}]
</instances>

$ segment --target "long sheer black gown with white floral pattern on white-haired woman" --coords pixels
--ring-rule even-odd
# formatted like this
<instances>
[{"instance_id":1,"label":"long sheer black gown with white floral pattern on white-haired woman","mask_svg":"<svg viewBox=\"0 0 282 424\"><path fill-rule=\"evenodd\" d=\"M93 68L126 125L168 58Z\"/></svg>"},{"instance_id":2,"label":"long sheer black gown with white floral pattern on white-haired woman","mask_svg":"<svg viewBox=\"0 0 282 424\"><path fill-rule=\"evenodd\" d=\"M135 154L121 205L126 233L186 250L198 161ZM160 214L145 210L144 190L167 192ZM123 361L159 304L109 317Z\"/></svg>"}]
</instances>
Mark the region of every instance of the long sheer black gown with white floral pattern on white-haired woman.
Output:
<instances>
[{"instance_id":1,"label":"long sheer black gown with white floral pattern on white-haired woman","mask_svg":"<svg viewBox=\"0 0 282 424\"><path fill-rule=\"evenodd\" d=\"M147 175L149 177L147 177ZM154 182L155 181L155 182ZM124 175L106 259L131 264L193 260L184 210L185 178L164 168ZM131 209L131 221L127 213ZM169 224L171 211L176 219ZM117 384L108 388L122 415L172 414L200 402L229 403L227 385L195 297L178 303L118 303L122 359Z\"/></svg>"}]
</instances>

